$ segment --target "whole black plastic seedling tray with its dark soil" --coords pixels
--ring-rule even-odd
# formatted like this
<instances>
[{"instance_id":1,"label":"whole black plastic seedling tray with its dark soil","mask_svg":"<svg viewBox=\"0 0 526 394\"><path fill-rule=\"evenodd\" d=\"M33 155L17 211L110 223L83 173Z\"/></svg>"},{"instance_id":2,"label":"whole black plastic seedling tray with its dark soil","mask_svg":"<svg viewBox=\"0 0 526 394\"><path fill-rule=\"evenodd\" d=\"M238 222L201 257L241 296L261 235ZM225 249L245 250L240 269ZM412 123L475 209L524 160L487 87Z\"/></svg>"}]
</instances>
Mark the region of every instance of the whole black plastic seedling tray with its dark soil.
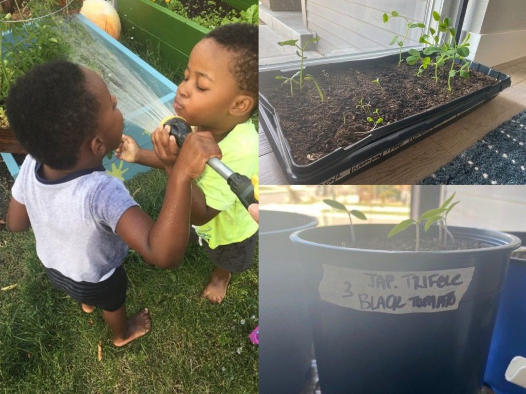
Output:
<instances>
[{"instance_id":1,"label":"whole black plastic seedling tray with its dark soil","mask_svg":"<svg viewBox=\"0 0 526 394\"><path fill-rule=\"evenodd\" d=\"M314 85L290 97L276 76L291 77L296 65L260 70L261 125L290 183L336 183L356 175L495 97L511 85L508 75L475 62L469 79L439 70L438 83L428 68L398 64L399 55L349 61L346 57L306 61ZM443 73L446 73L444 76ZM380 85L373 82L380 81ZM444 82L445 78L445 82ZM381 86L381 87L380 87ZM360 101L366 108L360 106ZM370 107L367 107L367 104ZM372 132L370 113L378 108L383 122ZM377 120L375 115L373 120Z\"/></svg>"}]
</instances>

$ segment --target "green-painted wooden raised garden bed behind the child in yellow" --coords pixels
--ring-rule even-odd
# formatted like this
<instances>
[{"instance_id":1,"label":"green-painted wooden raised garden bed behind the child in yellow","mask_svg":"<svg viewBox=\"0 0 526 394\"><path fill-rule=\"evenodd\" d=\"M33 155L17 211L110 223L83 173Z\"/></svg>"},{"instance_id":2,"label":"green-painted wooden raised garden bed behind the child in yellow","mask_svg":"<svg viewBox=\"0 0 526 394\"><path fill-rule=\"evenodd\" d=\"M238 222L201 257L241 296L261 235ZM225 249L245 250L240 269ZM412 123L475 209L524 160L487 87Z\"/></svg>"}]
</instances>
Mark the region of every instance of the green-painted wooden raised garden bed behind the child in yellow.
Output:
<instances>
[{"instance_id":1,"label":"green-painted wooden raised garden bed behind the child in yellow","mask_svg":"<svg viewBox=\"0 0 526 394\"><path fill-rule=\"evenodd\" d=\"M225 0L225 2L239 11L257 4L256 0ZM166 5L165 2L163 4ZM119 0L118 12L123 29L129 34L133 32L135 39L159 48L160 54L174 68L186 66L191 49L210 31L207 27L151 0Z\"/></svg>"}]
</instances>

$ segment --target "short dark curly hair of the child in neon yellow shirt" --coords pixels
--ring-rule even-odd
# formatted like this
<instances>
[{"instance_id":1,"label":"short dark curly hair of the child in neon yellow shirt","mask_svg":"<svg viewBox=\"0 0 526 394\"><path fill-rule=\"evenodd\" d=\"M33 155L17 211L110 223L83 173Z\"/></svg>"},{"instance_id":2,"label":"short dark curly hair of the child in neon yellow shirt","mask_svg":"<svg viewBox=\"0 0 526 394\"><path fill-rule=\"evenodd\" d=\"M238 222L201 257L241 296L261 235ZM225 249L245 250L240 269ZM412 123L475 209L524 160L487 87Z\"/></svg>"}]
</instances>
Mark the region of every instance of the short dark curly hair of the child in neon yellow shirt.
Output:
<instances>
[{"instance_id":1,"label":"short dark curly hair of the child in neon yellow shirt","mask_svg":"<svg viewBox=\"0 0 526 394\"><path fill-rule=\"evenodd\" d=\"M228 51L235 53L231 63L232 75L238 88L258 97L258 27L233 23L215 28L205 38L213 38Z\"/></svg>"}]
</instances>

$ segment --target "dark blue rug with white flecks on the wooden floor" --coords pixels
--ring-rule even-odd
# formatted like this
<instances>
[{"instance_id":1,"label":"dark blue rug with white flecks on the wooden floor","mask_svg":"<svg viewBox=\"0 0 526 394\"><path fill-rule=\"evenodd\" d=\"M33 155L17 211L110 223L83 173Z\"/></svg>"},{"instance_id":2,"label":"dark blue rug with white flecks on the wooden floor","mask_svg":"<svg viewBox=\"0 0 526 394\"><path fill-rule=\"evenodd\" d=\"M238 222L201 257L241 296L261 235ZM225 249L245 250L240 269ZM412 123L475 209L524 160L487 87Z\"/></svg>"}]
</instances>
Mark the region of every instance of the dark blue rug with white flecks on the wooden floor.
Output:
<instances>
[{"instance_id":1,"label":"dark blue rug with white flecks on the wooden floor","mask_svg":"<svg viewBox=\"0 0 526 394\"><path fill-rule=\"evenodd\" d=\"M420 184L526 184L526 110L490 131Z\"/></svg>"}]
</instances>

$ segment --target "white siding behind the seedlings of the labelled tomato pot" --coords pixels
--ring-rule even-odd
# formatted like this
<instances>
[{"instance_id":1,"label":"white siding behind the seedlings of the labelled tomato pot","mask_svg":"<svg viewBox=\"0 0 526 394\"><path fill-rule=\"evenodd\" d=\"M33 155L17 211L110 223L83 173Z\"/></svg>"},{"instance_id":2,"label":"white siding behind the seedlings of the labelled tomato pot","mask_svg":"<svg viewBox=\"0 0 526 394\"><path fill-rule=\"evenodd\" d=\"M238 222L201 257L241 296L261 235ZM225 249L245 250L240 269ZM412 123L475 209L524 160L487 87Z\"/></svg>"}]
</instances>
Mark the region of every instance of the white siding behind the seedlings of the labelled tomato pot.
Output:
<instances>
[{"instance_id":1,"label":"white siding behind the seedlings of the labelled tomato pot","mask_svg":"<svg viewBox=\"0 0 526 394\"><path fill-rule=\"evenodd\" d=\"M489 230L526 231L526 185L447 185L444 196L460 200L448 224Z\"/></svg>"}]
</instances>

